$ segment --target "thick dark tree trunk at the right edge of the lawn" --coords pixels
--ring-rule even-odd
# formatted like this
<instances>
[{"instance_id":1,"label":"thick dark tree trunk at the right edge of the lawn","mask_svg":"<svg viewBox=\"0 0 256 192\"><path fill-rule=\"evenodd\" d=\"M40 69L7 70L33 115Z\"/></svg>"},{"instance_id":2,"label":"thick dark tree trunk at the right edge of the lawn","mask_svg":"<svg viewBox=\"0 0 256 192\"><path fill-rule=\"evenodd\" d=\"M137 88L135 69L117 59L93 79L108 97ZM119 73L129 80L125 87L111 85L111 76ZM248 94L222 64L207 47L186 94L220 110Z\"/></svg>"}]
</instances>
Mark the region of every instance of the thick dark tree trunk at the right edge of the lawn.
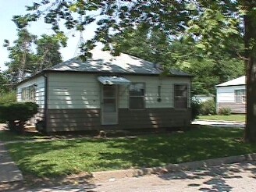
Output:
<instances>
[{"instance_id":1,"label":"thick dark tree trunk at the right edge of the lawn","mask_svg":"<svg viewBox=\"0 0 256 192\"><path fill-rule=\"evenodd\" d=\"M244 139L256 143L256 16L255 2L244 1L247 15L244 16L245 65L247 75L247 119Z\"/></svg>"}]
</instances>

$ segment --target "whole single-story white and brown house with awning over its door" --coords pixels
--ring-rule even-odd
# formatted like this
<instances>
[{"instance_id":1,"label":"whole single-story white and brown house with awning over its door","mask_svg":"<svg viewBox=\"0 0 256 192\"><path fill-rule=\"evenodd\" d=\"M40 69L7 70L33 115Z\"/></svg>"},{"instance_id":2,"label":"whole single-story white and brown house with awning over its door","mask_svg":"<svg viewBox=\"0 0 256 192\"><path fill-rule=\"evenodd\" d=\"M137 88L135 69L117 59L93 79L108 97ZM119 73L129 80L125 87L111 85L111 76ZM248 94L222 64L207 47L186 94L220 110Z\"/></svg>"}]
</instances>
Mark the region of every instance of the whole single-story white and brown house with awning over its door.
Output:
<instances>
[{"instance_id":1,"label":"whole single-story white and brown house with awning over its door","mask_svg":"<svg viewBox=\"0 0 256 192\"><path fill-rule=\"evenodd\" d=\"M128 130L190 125L191 76L95 49L87 62L69 59L17 85L17 101L35 101L45 132Z\"/></svg>"}]
</instances>

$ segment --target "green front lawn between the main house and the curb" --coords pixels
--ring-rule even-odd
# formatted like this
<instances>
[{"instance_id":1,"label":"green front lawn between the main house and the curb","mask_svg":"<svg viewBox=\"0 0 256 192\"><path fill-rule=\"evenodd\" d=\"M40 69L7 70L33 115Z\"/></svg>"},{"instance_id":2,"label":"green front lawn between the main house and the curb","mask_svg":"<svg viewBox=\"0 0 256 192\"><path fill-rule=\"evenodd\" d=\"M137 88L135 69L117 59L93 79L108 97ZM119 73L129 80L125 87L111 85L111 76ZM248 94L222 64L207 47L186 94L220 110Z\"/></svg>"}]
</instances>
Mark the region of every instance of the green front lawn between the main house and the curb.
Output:
<instances>
[{"instance_id":1,"label":"green front lawn between the main house and the curb","mask_svg":"<svg viewBox=\"0 0 256 192\"><path fill-rule=\"evenodd\" d=\"M256 152L240 142L243 130L196 128L133 139L76 139L7 144L25 175L65 176L78 172L151 167Z\"/></svg>"}]
</instances>

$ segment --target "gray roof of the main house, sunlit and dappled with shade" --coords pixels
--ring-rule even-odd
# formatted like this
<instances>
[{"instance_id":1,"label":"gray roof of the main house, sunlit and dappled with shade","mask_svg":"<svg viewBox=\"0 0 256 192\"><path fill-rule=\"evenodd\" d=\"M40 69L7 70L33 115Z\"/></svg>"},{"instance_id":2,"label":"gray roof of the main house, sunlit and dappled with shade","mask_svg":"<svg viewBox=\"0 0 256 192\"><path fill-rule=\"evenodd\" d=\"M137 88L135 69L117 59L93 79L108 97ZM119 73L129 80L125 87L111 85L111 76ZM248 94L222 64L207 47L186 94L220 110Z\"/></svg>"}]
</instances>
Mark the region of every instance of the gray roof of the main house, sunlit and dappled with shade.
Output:
<instances>
[{"instance_id":1,"label":"gray roof of the main house, sunlit and dappled with shade","mask_svg":"<svg viewBox=\"0 0 256 192\"><path fill-rule=\"evenodd\" d=\"M47 70L145 75L162 73L162 70L157 67L157 64L131 55L121 53L119 56L112 56L110 52L101 51L100 48L94 48L91 53L92 58L88 59L86 62L73 58L52 66ZM176 69L171 70L171 74L174 76L190 76Z\"/></svg>"}]
</instances>

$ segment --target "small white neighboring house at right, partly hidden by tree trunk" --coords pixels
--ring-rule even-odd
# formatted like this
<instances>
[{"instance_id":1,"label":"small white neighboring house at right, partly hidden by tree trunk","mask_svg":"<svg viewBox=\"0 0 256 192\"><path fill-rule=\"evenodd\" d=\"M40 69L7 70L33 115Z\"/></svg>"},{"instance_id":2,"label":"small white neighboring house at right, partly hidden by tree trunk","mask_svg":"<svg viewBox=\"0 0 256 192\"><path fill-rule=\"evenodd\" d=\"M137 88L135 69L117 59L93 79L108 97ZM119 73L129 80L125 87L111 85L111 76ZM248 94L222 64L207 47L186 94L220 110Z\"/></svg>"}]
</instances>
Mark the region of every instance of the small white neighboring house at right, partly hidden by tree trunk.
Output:
<instances>
[{"instance_id":1,"label":"small white neighboring house at right, partly hidden by tree trunk","mask_svg":"<svg viewBox=\"0 0 256 192\"><path fill-rule=\"evenodd\" d=\"M245 76L229 80L215 87L217 112L219 112L219 108L231 108L232 113L246 112Z\"/></svg>"}]
</instances>

